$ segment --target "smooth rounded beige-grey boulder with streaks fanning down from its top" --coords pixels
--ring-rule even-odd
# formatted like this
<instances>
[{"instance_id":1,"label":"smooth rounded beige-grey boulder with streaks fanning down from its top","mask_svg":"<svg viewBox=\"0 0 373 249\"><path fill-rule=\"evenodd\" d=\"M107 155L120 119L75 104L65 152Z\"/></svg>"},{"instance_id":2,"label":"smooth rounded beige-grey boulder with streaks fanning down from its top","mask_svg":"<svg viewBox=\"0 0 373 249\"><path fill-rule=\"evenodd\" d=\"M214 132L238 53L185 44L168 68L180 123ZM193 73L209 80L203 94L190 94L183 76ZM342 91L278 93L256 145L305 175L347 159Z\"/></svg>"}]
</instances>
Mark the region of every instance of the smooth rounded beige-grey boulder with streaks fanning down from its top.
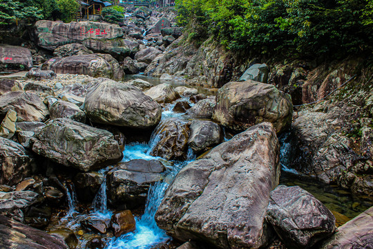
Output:
<instances>
[{"instance_id":1,"label":"smooth rounded beige-grey boulder with streaks fanning down from its top","mask_svg":"<svg viewBox=\"0 0 373 249\"><path fill-rule=\"evenodd\" d=\"M84 105L88 118L100 124L146 129L155 127L162 116L160 105L140 89L113 80L90 89Z\"/></svg>"}]
</instances>

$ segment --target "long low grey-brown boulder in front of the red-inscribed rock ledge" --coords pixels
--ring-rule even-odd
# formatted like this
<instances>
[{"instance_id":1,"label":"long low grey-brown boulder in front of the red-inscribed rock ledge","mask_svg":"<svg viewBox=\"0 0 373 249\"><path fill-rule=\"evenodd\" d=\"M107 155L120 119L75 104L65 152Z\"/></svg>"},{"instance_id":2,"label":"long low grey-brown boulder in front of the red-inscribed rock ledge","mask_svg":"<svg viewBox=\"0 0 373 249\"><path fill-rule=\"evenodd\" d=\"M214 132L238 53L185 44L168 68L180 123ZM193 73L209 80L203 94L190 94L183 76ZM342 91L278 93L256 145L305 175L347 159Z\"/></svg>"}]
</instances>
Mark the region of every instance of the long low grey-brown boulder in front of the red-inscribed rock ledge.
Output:
<instances>
[{"instance_id":1,"label":"long low grey-brown boulder in front of the red-inscribed rock ledge","mask_svg":"<svg viewBox=\"0 0 373 249\"><path fill-rule=\"evenodd\" d=\"M55 71L55 73L108 77L113 80L123 80L124 77L124 71L117 60L111 55L104 54L54 57L45 62L42 68Z\"/></svg>"}]
</instances>

